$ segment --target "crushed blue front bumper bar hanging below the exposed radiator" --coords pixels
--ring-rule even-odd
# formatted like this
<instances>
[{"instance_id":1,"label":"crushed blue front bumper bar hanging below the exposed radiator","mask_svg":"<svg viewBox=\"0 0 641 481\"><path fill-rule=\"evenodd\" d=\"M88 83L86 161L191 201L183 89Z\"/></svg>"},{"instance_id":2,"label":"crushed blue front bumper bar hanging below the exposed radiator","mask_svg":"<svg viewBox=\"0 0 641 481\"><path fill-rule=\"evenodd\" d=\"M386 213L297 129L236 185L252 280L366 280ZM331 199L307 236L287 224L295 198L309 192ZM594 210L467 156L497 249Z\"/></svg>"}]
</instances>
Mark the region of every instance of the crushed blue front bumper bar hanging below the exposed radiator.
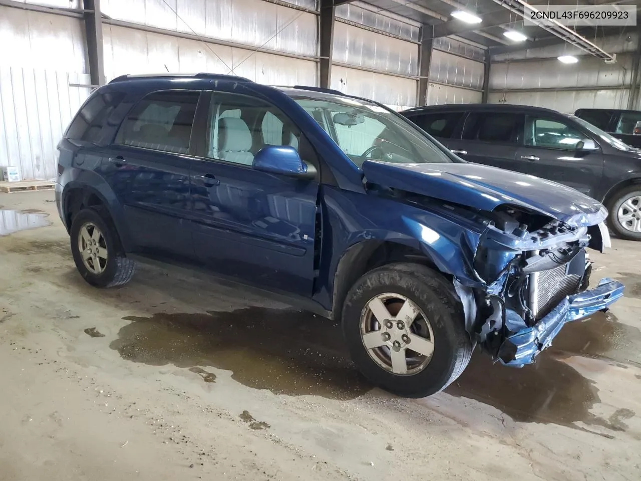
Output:
<instances>
[{"instance_id":1,"label":"crushed blue front bumper bar hanging below the exposed radiator","mask_svg":"<svg viewBox=\"0 0 641 481\"><path fill-rule=\"evenodd\" d=\"M505 366L521 367L534 362L540 351L552 344L565 323L587 317L608 308L623 296L623 284L610 278L599 281L590 291L567 296L547 316L532 327L510 335L499 348L499 360Z\"/></svg>"}]
</instances>

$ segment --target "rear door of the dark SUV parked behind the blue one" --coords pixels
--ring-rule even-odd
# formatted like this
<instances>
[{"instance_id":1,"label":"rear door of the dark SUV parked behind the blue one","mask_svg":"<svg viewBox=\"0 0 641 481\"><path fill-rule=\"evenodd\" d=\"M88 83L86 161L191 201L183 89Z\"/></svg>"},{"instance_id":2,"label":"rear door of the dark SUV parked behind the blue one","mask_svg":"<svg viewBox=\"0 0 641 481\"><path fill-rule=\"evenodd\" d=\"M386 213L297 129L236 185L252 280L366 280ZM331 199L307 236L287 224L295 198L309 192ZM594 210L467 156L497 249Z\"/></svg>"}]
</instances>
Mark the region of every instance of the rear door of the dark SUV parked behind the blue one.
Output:
<instances>
[{"instance_id":1,"label":"rear door of the dark SUV parked behind the blue one","mask_svg":"<svg viewBox=\"0 0 641 481\"><path fill-rule=\"evenodd\" d=\"M462 138L449 140L451 151L469 162L516 170L516 150L525 115L515 112L470 112Z\"/></svg>"}]
</instances>

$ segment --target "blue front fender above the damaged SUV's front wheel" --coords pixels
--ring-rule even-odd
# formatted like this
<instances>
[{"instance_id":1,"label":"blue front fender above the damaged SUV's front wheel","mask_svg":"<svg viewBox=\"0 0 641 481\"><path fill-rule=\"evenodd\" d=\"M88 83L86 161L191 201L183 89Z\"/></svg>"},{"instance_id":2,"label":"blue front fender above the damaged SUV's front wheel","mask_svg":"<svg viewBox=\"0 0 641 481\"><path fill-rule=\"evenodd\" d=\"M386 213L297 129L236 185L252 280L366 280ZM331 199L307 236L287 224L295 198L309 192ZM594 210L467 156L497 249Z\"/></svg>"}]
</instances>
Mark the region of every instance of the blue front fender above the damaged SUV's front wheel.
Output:
<instances>
[{"instance_id":1,"label":"blue front fender above the damaged SUV's front wheel","mask_svg":"<svg viewBox=\"0 0 641 481\"><path fill-rule=\"evenodd\" d=\"M344 289L338 286L338 278L349 286L356 281L351 273L360 272L363 267L352 265L363 255L357 255L357 251L370 249L364 253L367 257L383 242L421 251L441 272L463 285L483 285L472 262L485 226L446 218L395 199L326 185L322 186L322 194L322 248L313 297L328 310L340 305L336 297Z\"/></svg>"}]
</instances>

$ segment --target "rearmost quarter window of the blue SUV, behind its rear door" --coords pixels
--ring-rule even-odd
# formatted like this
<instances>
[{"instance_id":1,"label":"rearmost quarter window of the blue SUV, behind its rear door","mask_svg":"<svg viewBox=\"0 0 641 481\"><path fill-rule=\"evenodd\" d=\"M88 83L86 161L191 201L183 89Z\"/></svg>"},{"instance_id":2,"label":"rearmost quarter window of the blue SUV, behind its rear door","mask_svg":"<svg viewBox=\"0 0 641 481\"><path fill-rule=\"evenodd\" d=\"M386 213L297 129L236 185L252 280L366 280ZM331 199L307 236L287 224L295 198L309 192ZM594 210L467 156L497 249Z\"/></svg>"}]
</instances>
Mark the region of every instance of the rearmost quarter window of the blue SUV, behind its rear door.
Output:
<instances>
[{"instance_id":1,"label":"rearmost quarter window of the blue SUV, behind its rear door","mask_svg":"<svg viewBox=\"0 0 641 481\"><path fill-rule=\"evenodd\" d=\"M92 96L69 125L65 137L85 142L101 139L104 120L124 98L121 92L104 92Z\"/></svg>"}]
</instances>

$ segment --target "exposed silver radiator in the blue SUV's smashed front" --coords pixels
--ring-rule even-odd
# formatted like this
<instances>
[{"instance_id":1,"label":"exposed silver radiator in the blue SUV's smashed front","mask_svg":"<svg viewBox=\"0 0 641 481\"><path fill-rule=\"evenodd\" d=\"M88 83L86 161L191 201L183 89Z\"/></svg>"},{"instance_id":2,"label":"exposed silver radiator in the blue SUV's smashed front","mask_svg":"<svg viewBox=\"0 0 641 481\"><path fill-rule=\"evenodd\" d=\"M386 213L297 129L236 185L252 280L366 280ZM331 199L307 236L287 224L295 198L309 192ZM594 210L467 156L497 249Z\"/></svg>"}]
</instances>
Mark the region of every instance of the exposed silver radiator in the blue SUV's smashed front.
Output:
<instances>
[{"instance_id":1,"label":"exposed silver radiator in the blue SUV's smashed front","mask_svg":"<svg viewBox=\"0 0 641 481\"><path fill-rule=\"evenodd\" d=\"M567 267L568 264L563 264L554 269L530 274L530 308L537 321L565 296L579 291L581 276L567 274Z\"/></svg>"}]
</instances>

